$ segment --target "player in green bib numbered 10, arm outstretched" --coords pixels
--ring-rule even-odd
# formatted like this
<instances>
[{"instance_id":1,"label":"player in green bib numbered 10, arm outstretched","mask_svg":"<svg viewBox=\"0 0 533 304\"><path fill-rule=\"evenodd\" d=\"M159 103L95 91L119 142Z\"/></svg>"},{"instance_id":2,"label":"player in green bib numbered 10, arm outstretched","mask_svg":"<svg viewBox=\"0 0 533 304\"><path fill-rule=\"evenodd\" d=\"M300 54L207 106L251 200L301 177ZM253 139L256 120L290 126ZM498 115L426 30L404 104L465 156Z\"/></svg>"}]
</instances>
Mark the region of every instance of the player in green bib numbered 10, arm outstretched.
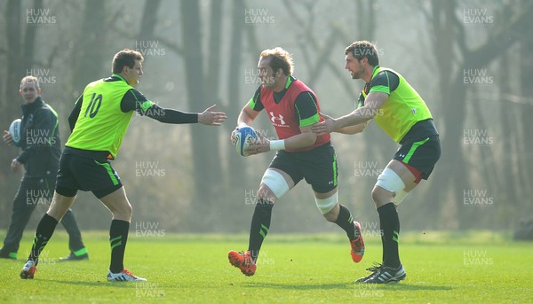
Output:
<instances>
[{"instance_id":1,"label":"player in green bib numbered 10, arm outstretched","mask_svg":"<svg viewBox=\"0 0 533 304\"><path fill-rule=\"evenodd\" d=\"M107 281L146 281L124 269L123 258L131 222L131 205L123 184L111 167L134 111L163 123L202 123L219 126L226 113L184 113L155 105L133 88L143 74L143 57L138 51L115 54L110 77L89 83L68 117L72 134L60 158L52 204L36 230L28 261L20 271L23 279L33 278L39 253L52 238L56 225L72 206L78 190L91 191L113 214L109 229L111 262Z\"/></svg>"}]
</instances>

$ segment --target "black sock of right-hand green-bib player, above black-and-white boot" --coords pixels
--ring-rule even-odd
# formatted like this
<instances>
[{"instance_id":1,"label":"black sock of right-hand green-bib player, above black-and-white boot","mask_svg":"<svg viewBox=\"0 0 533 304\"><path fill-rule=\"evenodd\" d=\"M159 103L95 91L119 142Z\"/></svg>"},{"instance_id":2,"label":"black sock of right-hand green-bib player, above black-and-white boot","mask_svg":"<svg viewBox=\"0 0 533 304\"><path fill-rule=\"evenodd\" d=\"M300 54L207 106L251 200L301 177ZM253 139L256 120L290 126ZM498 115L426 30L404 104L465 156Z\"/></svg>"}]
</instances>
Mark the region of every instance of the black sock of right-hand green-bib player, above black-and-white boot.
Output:
<instances>
[{"instance_id":1,"label":"black sock of right-hand green-bib player, above black-and-white boot","mask_svg":"<svg viewBox=\"0 0 533 304\"><path fill-rule=\"evenodd\" d=\"M383 231L384 256L383 264L388 267L400 266L398 254L398 236L400 233L400 219L394 203L378 207L379 223Z\"/></svg>"}]
</instances>

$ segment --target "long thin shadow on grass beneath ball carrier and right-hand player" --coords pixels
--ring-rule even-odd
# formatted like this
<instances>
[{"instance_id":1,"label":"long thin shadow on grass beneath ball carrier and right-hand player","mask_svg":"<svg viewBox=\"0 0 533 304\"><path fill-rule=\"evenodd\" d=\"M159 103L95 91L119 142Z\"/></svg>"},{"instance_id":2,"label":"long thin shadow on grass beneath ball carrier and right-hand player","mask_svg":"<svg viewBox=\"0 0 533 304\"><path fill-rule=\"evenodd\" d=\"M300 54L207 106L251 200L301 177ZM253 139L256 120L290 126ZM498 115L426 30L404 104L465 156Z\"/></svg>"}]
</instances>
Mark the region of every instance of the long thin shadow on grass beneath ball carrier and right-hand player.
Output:
<instances>
[{"instance_id":1,"label":"long thin shadow on grass beneath ball carrier and right-hand player","mask_svg":"<svg viewBox=\"0 0 533 304\"><path fill-rule=\"evenodd\" d=\"M245 287L254 288L273 288L273 289L291 289L291 290L320 290L320 289L372 289L383 291L449 291L452 286L438 286L438 285L412 285L404 283L390 283L385 285L365 285L355 282L346 282L338 284L314 284L314 285L293 285L293 284L276 284L276 283L251 283L244 285Z\"/></svg>"}]
</instances>

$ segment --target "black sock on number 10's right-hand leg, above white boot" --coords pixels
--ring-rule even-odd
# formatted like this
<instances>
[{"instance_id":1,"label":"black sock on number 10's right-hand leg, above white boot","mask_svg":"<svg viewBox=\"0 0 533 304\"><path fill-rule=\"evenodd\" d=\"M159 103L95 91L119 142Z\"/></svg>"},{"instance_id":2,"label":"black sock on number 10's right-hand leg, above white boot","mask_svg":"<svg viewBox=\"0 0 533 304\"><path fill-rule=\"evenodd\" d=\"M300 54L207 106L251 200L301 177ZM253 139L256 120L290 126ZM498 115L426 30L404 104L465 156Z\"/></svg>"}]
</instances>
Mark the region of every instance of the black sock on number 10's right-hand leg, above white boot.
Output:
<instances>
[{"instance_id":1,"label":"black sock on number 10's right-hand leg, above white boot","mask_svg":"<svg viewBox=\"0 0 533 304\"><path fill-rule=\"evenodd\" d=\"M109 228L109 243L111 245L111 264L109 270L119 273L124 269L124 251L128 240L130 222L113 220Z\"/></svg>"}]
</instances>

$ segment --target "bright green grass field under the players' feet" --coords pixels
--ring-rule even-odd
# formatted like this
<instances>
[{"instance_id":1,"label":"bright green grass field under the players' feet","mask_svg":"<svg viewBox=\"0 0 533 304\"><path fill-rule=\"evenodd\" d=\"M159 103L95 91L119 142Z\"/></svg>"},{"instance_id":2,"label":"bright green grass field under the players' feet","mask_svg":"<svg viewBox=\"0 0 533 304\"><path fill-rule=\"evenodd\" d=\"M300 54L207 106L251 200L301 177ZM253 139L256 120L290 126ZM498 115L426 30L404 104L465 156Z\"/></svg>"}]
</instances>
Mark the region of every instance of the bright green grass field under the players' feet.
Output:
<instances>
[{"instance_id":1,"label":"bright green grass field under the players' feet","mask_svg":"<svg viewBox=\"0 0 533 304\"><path fill-rule=\"evenodd\" d=\"M0 260L0 303L531 303L533 243L490 232L404 233L401 257L406 280L360 285L372 261L381 259L378 237L366 238L361 263L338 235L270 235L254 277L227 262L247 236L130 234L125 266L147 283L108 283L107 232L85 232L89 261L59 262L67 236L59 231L42 254L36 278L21 280L31 232L19 261ZM4 237L5 232L0 234Z\"/></svg>"}]
</instances>

